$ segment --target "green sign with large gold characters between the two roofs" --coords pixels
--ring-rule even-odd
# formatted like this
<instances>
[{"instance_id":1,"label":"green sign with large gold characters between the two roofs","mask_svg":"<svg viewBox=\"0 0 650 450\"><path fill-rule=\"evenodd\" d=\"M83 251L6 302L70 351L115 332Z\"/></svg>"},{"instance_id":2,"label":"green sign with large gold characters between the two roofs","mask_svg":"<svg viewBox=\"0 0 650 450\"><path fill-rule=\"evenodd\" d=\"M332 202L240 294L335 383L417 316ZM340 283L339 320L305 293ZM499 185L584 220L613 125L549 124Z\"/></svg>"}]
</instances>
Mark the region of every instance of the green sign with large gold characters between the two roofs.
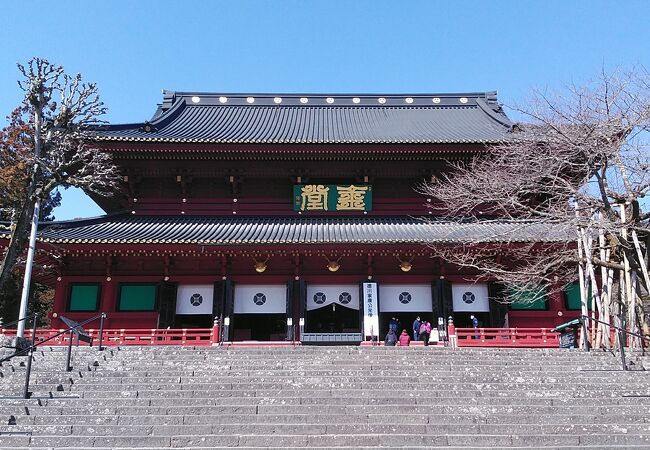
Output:
<instances>
[{"instance_id":1,"label":"green sign with large gold characters between the two roofs","mask_svg":"<svg viewBox=\"0 0 650 450\"><path fill-rule=\"evenodd\" d=\"M368 184L294 184L294 211L372 211Z\"/></svg>"}]
</instances>

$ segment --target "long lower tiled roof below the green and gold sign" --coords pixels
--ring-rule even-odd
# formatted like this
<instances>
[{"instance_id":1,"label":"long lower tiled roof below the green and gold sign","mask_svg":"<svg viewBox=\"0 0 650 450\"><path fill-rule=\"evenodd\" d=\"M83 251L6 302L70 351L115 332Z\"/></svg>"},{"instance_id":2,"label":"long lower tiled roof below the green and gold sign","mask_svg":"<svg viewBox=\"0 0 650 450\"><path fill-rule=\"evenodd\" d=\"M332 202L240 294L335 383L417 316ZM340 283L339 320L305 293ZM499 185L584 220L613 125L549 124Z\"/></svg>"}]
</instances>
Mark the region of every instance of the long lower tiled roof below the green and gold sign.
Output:
<instances>
[{"instance_id":1,"label":"long lower tiled roof below the green and gold sign","mask_svg":"<svg viewBox=\"0 0 650 450\"><path fill-rule=\"evenodd\" d=\"M2 230L0 230L0 235ZM41 241L120 244L391 244L560 242L570 230L530 222L427 222L404 217L103 216L44 223Z\"/></svg>"}]
</instances>

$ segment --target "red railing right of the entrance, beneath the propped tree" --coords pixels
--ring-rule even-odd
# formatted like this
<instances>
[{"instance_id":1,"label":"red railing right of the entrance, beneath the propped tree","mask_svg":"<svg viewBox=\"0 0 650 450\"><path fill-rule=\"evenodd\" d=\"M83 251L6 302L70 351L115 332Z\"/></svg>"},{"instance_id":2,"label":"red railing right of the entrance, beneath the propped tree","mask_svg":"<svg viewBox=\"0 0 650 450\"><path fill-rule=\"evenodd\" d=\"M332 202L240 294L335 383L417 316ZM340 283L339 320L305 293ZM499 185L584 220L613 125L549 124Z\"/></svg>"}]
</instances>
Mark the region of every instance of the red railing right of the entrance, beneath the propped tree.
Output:
<instances>
[{"instance_id":1,"label":"red railing right of the entrance, beneath the propped tree","mask_svg":"<svg viewBox=\"0 0 650 450\"><path fill-rule=\"evenodd\" d=\"M558 347L551 328L456 328L459 347Z\"/></svg>"}]
</instances>

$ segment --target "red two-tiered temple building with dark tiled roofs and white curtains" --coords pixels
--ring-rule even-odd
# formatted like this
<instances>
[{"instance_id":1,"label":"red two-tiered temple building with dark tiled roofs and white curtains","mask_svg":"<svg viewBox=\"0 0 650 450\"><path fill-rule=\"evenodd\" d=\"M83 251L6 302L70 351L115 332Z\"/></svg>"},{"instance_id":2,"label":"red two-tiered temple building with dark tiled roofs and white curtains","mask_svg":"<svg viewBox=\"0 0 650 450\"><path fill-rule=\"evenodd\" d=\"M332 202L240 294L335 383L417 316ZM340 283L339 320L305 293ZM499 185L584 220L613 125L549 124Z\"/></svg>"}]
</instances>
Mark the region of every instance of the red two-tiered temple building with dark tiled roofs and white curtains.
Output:
<instances>
[{"instance_id":1,"label":"red two-tiered temple building with dark tiled roofs and white curtains","mask_svg":"<svg viewBox=\"0 0 650 450\"><path fill-rule=\"evenodd\" d=\"M107 215L42 224L60 254L53 319L205 328L224 339L360 342L392 318L552 327L575 293L504 305L483 274L437 256L467 236L564 239L531 224L436 217L422 183L506 138L495 92L296 95L164 92L144 123L98 131L123 191ZM477 281L478 280L478 281ZM297 327L294 329L293 326Z\"/></svg>"}]
</instances>

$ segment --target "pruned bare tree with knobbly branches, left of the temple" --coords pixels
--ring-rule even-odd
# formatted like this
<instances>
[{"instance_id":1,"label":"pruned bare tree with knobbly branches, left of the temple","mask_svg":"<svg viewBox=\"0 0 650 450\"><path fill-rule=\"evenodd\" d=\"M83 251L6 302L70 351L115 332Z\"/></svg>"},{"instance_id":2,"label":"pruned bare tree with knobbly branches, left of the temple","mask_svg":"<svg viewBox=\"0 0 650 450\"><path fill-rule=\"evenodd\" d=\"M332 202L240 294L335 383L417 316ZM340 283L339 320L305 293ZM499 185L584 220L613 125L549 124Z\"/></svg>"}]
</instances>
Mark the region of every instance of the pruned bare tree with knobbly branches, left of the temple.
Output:
<instances>
[{"instance_id":1,"label":"pruned bare tree with knobbly branches, left of the temple","mask_svg":"<svg viewBox=\"0 0 650 450\"><path fill-rule=\"evenodd\" d=\"M12 168L0 172L0 207L11 219L0 290L24 251L35 205L38 210L60 186L107 196L118 183L110 155L89 145L106 112L97 86L41 58L18 64L18 69L25 97L0 139L0 167Z\"/></svg>"}]
</instances>

